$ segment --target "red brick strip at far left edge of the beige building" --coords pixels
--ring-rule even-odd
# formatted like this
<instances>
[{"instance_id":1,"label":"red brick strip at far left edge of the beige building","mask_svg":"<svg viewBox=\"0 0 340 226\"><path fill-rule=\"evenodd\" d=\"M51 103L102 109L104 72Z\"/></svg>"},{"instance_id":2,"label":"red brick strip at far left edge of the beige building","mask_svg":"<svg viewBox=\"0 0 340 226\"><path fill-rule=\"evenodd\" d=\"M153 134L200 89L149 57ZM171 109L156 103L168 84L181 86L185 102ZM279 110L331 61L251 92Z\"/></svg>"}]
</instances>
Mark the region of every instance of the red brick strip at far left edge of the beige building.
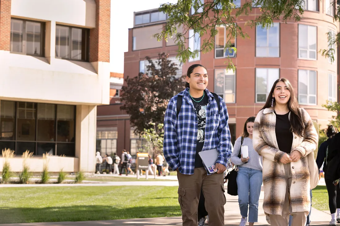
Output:
<instances>
[{"instance_id":1,"label":"red brick strip at far left edge of the beige building","mask_svg":"<svg viewBox=\"0 0 340 226\"><path fill-rule=\"evenodd\" d=\"M0 50L10 51L11 0L0 0Z\"/></svg>"}]
</instances>

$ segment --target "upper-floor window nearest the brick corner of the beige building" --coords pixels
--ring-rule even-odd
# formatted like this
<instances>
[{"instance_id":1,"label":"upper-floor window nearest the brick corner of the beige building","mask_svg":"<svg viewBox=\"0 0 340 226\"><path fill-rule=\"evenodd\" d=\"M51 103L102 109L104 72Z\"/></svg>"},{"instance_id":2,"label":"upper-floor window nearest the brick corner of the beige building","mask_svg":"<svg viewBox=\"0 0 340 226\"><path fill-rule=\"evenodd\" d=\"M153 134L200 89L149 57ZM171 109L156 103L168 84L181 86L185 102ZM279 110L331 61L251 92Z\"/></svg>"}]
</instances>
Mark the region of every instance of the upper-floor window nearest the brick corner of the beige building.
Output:
<instances>
[{"instance_id":1,"label":"upper-floor window nearest the brick corner of the beige building","mask_svg":"<svg viewBox=\"0 0 340 226\"><path fill-rule=\"evenodd\" d=\"M56 25L55 57L88 61L89 30Z\"/></svg>"}]
</instances>

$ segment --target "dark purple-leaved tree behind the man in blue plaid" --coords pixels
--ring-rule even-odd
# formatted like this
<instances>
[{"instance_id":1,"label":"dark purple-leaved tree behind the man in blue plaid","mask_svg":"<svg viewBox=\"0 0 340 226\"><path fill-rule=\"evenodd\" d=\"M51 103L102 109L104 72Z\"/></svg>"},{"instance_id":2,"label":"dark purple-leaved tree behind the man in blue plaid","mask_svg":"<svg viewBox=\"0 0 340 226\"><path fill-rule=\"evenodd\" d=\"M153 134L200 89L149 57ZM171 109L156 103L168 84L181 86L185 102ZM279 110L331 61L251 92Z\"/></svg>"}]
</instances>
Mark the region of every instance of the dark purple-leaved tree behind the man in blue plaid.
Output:
<instances>
[{"instance_id":1,"label":"dark purple-leaved tree behind the man in blue plaid","mask_svg":"<svg viewBox=\"0 0 340 226\"><path fill-rule=\"evenodd\" d=\"M146 57L149 61L146 74L125 79L127 86L123 86L120 107L130 115L130 123L136 127L139 134L152 125L163 123L164 114L171 97L184 89L183 79L176 76L177 65L168 59L166 53L158 54L156 61ZM158 132L158 127L155 128Z\"/></svg>"}]
</instances>

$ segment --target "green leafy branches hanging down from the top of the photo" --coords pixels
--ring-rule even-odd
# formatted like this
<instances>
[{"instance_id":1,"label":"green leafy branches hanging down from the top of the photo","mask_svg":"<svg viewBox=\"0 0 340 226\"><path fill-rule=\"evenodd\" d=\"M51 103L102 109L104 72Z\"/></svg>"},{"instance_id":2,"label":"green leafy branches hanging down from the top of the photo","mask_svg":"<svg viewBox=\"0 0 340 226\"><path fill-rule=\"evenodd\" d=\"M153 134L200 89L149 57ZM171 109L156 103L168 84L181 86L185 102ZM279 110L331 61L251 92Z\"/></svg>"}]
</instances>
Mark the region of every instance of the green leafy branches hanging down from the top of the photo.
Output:
<instances>
[{"instance_id":1,"label":"green leafy branches hanging down from the top of the photo","mask_svg":"<svg viewBox=\"0 0 340 226\"><path fill-rule=\"evenodd\" d=\"M165 3L160 6L159 10L168 14L168 20L163 31L155 34L154 37L159 41L163 38L166 40L169 37L174 38L178 45L177 57L182 62L186 62L190 58L197 57L199 52L206 53L214 50L214 39L218 34L216 27L225 26L226 44L224 50L236 52L231 41L236 36L249 38L242 31L242 27L235 23L238 17L242 17L241 20L245 21L245 25L251 27L261 25L262 28L272 26L273 20L300 21L304 13L304 2L304 0L248 0L241 6L236 6L235 0L205 0L204 3L201 0L178 0L177 3ZM322 3L321 0L320 3ZM254 10L253 6L261 7L262 14L251 20L246 19L244 16L249 15L249 12ZM189 13L191 7L194 13ZM334 16L334 20L338 21L339 18L340 6L337 6L337 14ZM183 30L177 33L179 27ZM203 37L203 35L206 37L203 41L201 40L201 46L198 50L191 50L186 47L188 33L191 29L193 34L198 33L200 37ZM327 33L327 35L329 49L320 50L320 52L323 56L330 57L334 61L335 44L340 35L338 34L336 37L332 37L330 33ZM234 68L230 58L228 61L228 68Z\"/></svg>"}]
</instances>

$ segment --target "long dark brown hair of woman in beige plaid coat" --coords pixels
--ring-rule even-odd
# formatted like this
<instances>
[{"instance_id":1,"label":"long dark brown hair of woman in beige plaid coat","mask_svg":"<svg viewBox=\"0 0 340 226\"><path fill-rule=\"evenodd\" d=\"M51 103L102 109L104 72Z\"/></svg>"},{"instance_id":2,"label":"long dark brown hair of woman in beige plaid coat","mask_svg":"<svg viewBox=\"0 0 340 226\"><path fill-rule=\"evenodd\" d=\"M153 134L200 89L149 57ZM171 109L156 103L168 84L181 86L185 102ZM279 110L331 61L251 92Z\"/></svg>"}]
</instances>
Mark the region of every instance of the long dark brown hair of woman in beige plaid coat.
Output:
<instances>
[{"instance_id":1,"label":"long dark brown hair of woman in beige plaid coat","mask_svg":"<svg viewBox=\"0 0 340 226\"><path fill-rule=\"evenodd\" d=\"M263 106L262 109L265 108L270 108L272 105L272 95L274 93L274 89L276 87L277 82L282 81L285 83L286 87L288 88L289 92L290 92L290 98L288 100L288 109L291 112L290 114L290 131L294 132L296 135L300 136L300 137L305 137L304 133L305 133L305 125L303 123L302 120L302 115L299 109L299 102L297 102L297 98L295 96L292 84L289 82L289 80L287 78L279 78L277 79L274 84L272 89L270 90L270 95L268 95L267 101L265 103L265 106ZM273 107L275 106L276 101L274 98L274 102L273 102ZM261 109L261 110L262 110Z\"/></svg>"}]
</instances>

